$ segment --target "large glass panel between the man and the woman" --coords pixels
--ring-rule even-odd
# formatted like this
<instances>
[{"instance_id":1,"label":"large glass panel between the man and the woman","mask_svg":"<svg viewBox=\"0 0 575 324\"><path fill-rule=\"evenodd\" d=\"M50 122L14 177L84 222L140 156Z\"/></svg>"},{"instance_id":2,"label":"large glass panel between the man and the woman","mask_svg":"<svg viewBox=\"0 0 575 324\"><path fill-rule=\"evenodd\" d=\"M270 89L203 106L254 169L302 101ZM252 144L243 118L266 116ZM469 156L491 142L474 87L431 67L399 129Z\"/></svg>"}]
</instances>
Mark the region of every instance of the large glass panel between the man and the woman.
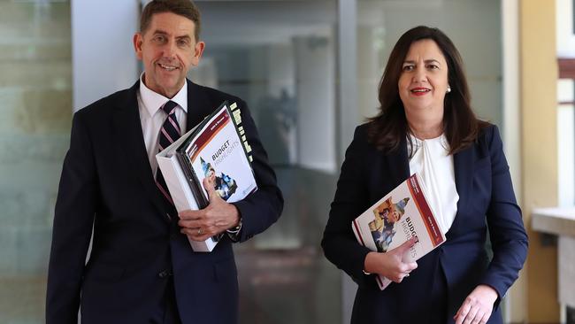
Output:
<instances>
[{"instance_id":1,"label":"large glass panel between the man and the woman","mask_svg":"<svg viewBox=\"0 0 575 324\"><path fill-rule=\"evenodd\" d=\"M341 322L340 272L319 241L334 195L336 1L197 1L206 50L189 77L250 107L285 198L235 245L242 323Z\"/></svg>"}]
</instances>

